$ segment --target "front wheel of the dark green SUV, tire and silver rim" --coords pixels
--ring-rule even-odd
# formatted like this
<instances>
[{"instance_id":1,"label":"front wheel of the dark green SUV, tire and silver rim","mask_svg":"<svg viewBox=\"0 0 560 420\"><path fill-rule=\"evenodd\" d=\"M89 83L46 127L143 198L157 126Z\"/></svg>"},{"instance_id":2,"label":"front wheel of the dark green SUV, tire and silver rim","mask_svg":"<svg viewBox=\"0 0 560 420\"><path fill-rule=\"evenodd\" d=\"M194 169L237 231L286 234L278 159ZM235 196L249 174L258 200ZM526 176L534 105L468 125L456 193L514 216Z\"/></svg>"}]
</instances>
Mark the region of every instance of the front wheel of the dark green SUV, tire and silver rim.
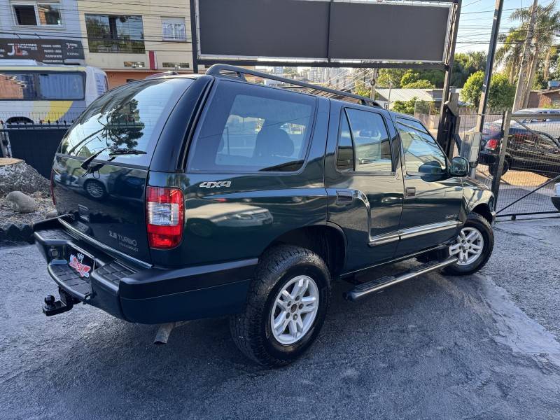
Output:
<instances>
[{"instance_id":1,"label":"front wheel of the dark green SUV, tire and silver rim","mask_svg":"<svg viewBox=\"0 0 560 420\"><path fill-rule=\"evenodd\" d=\"M477 213L467 216L454 244L449 246L449 255L458 261L444 268L446 274L465 276L473 274L486 265L492 254L494 233L490 223Z\"/></svg>"}]
</instances>

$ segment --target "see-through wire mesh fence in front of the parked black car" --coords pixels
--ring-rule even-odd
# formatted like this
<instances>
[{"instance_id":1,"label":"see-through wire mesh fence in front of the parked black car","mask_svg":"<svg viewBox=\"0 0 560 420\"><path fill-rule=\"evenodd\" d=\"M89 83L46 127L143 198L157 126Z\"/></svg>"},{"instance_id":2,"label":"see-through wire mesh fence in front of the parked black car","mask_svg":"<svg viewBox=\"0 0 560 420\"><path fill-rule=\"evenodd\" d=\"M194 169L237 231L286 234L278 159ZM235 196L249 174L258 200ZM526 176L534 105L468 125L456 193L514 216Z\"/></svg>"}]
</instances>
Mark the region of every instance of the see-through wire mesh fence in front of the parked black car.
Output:
<instances>
[{"instance_id":1,"label":"see-through wire mesh fence in front of the parked black car","mask_svg":"<svg viewBox=\"0 0 560 420\"><path fill-rule=\"evenodd\" d=\"M477 109L459 107L461 141L475 129ZM439 109L417 102L414 116L437 134ZM560 114L520 114L489 109L484 116L479 165L475 178L492 188L498 217L517 218L557 214L552 204L560 182ZM459 155L455 148L454 155ZM498 174L503 155L503 173Z\"/></svg>"}]
</instances>

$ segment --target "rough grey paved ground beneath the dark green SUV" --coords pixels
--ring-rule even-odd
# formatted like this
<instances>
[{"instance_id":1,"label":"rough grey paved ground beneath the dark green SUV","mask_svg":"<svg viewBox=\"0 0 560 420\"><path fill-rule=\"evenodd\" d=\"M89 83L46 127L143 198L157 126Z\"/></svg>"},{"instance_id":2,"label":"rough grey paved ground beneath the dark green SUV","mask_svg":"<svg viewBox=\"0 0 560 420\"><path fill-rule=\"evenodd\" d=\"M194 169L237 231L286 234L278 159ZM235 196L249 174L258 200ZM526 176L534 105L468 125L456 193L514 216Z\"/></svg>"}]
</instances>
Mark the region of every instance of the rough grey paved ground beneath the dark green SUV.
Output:
<instances>
[{"instance_id":1,"label":"rough grey paved ground beneath the dark green SUV","mask_svg":"<svg viewBox=\"0 0 560 420\"><path fill-rule=\"evenodd\" d=\"M0 248L0 417L560 419L560 221L540 223L500 223L479 275L432 273L358 303L338 283L318 342L279 370L241 356L225 318L166 346L155 326L85 305L46 318L55 286L38 251Z\"/></svg>"}]
</instances>

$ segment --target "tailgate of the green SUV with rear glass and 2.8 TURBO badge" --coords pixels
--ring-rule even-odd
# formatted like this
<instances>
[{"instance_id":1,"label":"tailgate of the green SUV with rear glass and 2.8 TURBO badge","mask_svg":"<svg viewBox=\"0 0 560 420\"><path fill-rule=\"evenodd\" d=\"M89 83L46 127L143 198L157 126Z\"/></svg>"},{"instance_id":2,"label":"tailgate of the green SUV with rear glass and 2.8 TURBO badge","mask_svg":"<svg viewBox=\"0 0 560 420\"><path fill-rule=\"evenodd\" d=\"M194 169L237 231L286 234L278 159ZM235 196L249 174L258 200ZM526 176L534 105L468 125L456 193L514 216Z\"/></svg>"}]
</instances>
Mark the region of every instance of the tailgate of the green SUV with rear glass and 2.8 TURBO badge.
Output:
<instances>
[{"instance_id":1,"label":"tailgate of the green SUV with rear glass and 2.8 TURBO badge","mask_svg":"<svg viewBox=\"0 0 560 420\"><path fill-rule=\"evenodd\" d=\"M97 99L66 133L52 167L64 223L83 235L150 261L145 190L148 167L169 113L192 80L152 79ZM138 151L109 155L109 146ZM89 167L84 160L101 151Z\"/></svg>"}]
</instances>

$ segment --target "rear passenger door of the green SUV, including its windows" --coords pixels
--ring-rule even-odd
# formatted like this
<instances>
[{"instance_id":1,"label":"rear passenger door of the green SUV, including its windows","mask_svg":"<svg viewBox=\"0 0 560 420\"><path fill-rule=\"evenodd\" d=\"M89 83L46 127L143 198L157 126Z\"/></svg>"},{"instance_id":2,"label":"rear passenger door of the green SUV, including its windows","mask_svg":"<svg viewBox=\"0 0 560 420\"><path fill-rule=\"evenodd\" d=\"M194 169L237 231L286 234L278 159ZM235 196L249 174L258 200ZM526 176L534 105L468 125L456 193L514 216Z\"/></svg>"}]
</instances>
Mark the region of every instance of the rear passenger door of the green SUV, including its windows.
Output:
<instances>
[{"instance_id":1,"label":"rear passenger door of the green SUV, including its windows","mask_svg":"<svg viewBox=\"0 0 560 420\"><path fill-rule=\"evenodd\" d=\"M332 102L325 186L328 220L346 234L351 271L390 260L398 244L403 182L398 141L381 110Z\"/></svg>"}]
</instances>

